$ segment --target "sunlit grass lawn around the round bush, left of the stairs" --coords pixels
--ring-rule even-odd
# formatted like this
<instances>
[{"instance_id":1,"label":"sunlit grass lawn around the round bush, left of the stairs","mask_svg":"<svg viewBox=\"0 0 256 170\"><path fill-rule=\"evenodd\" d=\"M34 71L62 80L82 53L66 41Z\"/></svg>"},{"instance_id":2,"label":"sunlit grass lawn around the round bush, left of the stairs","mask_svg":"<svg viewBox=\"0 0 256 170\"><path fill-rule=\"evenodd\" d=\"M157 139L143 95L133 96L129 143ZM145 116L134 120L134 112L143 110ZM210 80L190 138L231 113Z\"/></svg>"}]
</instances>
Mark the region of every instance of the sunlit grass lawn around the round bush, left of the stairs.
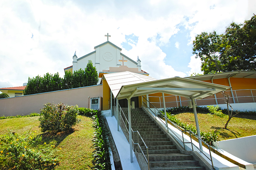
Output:
<instances>
[{"instance_id":1,"label":"sunlit grass lawn around the round bush, left of the stairs","mask_svg":"<svg viewBox=\"0 0 256 170\"><path fill-rule=\"evenodd\" d=\"M29 130L36 131L37 135L42 135L42 143L55 145L59 150L56 153L61 155L60 163L55 170L92 169L93 121L91 118L79 115L81 122L74 126L72 131L54 135L41 132L38 127L38 118L39 116L2 119L0 120L0 135L7 133L8 130L19 134Z\"/></svg>"}]
</instances>

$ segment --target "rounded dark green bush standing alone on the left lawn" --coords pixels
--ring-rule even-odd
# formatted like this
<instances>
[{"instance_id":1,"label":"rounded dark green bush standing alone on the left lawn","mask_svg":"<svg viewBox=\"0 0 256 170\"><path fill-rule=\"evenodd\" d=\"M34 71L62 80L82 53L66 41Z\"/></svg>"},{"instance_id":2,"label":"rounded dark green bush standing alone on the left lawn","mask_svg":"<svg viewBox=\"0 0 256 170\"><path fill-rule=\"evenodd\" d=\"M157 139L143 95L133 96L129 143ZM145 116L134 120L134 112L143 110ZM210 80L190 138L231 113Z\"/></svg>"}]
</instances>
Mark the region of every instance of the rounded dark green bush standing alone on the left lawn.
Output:
<instances>
[{"instance_id":1,"label":"rounded dark green bush standing alone on the left lawn","mask_svg":"<svg viewBox=\"0 0 256 170\"><path fill-rule=\"evenodd\" d=\"M44 104L40 110L40 125L42 132L63 132L68 131L76 123L80 122L77 118L79 113L78 106L68 106L63 103Z\"/></svg>"}]
</instances>

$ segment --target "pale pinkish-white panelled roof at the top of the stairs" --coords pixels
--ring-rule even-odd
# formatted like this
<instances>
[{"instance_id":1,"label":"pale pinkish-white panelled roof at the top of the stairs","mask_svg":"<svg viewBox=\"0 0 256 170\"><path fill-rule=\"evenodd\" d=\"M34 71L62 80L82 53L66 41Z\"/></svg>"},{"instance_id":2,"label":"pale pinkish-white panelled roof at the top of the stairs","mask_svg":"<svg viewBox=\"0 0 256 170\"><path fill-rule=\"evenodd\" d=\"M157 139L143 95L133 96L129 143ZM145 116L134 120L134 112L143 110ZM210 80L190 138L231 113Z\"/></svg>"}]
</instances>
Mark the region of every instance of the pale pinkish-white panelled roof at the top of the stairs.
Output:
<instances>
[{"instance_id":1,"label":"pale pinkish-white panelled roof at the top of the stairs","mask_svg":"<svg viewBox=\"0 0 256 170\"><path fill-rule=\"evenodd\" d=\"M157 80L150 76L137 74L137 73L133 73L133 72L129 72L129 71L104 74L103 79L107 80L108 85L109 85L115 98L116 98L120 88L124 85L144 83L144 82L150 82L153 80Z\"/></svg>"}]
</instances>

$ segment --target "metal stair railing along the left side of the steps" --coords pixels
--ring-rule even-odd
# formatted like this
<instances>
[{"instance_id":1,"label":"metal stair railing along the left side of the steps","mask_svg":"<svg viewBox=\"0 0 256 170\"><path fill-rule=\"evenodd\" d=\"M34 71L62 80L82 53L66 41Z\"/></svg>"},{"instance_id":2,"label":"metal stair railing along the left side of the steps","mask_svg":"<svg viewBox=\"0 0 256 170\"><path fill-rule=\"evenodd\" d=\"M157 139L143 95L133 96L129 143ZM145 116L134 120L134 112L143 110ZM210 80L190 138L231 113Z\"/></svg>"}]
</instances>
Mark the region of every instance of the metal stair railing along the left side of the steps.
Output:
<instances>
[{"instance_id":1,"label":"metal stair railing along the left side of the steps","mask_svg":"<svg viewBox=\"0 0 256 170\"><path fill-rule=\"evenodd\" d=\"M114 106L116 106L116 102L114 102ZM128 128L127 128L127 127L129 127L129 121L127 120L127 118L126 118L126 116L125 116L125 114L124 114L124 111L123 111L123 109L120 107L120 104L119 104L119 103L118 103L118 106L119 106L119 110L118 110L118 113L117 113L117 114L120 115L120 118L121 118L121 120L123 121L123 123L124 123L124 125L125 125L125 128L126 128L128 134L129 134L129 130L128 130ZM122 114L123 114L125 120L123 119ZM128 124L128 126L127 126L127 124ZM146 162L147 162L148 170L150 170L150 168L149 168L149 158L148 158L148 147L147 147L145 141L143 140L143 138L141 137L141 135L140 135L140 133L139 133L138 130L137 130L137 131L133 131L133 130L132 130L132 133L133 133L133 138L135 138L135 133L137 133L137 137L138 137L137 143L135 143L135 142L134 142L135 140L132 138L132 143L133 143L133 146L134 146L133 151L135 151L135 145L138 145L138 153L139 153L140 150L141 150L141 152L142 152L142 154L143 154L143 156L144 156L144 158L145 158L145 160L146 160ZM142 140L144 146L146 147L147 157L146 157L146 155L143 153L143 150L142 150L142 148L141 148L141 146L140 146L140 144L139 144L139 139Z\"/></svg>"}]
</instances>

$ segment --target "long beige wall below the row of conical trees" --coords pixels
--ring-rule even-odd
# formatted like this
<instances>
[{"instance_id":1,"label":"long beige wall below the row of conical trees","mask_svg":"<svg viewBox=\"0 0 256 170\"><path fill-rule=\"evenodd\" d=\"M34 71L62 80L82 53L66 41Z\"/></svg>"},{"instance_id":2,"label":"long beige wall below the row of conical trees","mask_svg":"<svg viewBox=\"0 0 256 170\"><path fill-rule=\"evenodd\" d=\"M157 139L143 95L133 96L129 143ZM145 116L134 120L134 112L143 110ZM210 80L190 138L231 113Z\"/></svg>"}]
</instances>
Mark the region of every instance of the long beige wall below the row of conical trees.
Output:
<instances>
[{"instance_id":1,"label":"long beige wall below the row of conical trees","mask_svg":"<svg viewBox=\"0 0 256 170\"><path fill-rule=\"evenodd\" d=\"M28 115L40 112L45 103L64 103L89 107L90 99L102 97L102 85L80 87L41 94L0 99L0 116ZM101 100L101 99L100 99ZM101 109L101 104L99 104Z\"/></svg>"}]
</instances>

